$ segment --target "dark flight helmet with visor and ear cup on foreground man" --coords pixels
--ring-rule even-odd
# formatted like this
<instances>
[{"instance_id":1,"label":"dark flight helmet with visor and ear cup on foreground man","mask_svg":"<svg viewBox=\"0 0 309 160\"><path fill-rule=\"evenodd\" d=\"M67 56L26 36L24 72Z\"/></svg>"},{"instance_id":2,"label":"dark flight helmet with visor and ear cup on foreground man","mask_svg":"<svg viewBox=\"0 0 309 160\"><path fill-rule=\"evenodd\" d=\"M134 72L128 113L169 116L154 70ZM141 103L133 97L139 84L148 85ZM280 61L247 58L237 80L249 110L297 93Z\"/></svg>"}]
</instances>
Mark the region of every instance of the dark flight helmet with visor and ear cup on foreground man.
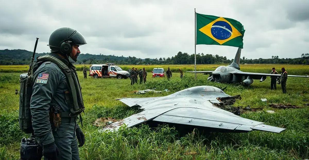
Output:
<instances>
[{"instance_id":1,"label":"dark flight helmet with visor and ear cup on foreground man","mask_svg":"<svg viewBox=\"0 0 309 160\"><path fill-rule=\"evenodd\" d=\"M84 36L77 30L69 27L61 27L53 31L49 37L49 48L51 52L60 51L62 54L69 54L72 50L72 45L87 44Z\"/></svg>"}]
</instances>

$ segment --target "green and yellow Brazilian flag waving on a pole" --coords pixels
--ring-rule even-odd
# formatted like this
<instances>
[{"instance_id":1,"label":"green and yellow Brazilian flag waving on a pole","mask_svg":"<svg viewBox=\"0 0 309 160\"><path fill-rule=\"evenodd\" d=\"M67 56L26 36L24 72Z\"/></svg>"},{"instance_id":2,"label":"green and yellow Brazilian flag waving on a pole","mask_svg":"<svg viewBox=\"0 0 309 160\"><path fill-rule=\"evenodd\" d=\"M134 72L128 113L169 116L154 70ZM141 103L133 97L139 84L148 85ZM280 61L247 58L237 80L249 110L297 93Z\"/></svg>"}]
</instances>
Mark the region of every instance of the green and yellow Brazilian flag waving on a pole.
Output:
<instances>
[{"instance_id":1,"label":"green and yellow Brazilian flag waving on a pole","mask_svg":"<svg viewBox=\"0 0 309 160\"><path fill-rule=\"evenodd\" d=\"M231 18L196 13L196 44L243 48L243 25Z\"/></svg>"}]
</instances>

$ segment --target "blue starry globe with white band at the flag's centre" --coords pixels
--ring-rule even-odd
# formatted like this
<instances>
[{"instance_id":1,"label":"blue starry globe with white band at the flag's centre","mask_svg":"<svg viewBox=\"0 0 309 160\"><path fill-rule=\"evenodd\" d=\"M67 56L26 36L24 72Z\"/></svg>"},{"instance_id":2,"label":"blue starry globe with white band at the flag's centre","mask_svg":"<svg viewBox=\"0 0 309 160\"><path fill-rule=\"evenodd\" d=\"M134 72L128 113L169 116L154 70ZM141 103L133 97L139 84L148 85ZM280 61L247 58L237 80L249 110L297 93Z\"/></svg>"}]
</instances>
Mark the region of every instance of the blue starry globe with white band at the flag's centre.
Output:
<instances>
[{"instance_id":1,"label":"blue starry globe with white band at the flag's centre","mask_svg":"<svg viewBox=\"0 0 309 160\"><path fill-rule=\"evenodd\" d=\"M231 37L232 27L227 22L218 21L211 26L211 34L214 38L225 40Z\"/></svg>"}]
</instances>

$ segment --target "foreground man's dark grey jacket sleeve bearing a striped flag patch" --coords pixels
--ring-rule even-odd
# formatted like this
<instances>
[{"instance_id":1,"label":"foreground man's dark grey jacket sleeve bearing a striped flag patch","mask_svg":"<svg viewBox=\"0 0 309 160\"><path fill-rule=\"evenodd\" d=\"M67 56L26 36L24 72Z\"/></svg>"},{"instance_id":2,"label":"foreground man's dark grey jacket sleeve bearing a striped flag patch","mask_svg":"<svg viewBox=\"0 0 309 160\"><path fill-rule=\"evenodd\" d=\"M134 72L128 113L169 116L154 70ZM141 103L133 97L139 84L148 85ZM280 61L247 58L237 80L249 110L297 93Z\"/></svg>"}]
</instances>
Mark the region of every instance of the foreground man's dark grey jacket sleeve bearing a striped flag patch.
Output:
<instances>
[{"instance_id":1,"label":"foreground man's dark grey jacket sleeve bearing a striped flag patch","mask_svg":"<svg viewBox=\"0 0 309 160\"><path fill-rule=\"evenodd\" d=\"M50 102L60 83L60 78L59 71L46 66L46 64L42 65L44 66L38 68L34 74L30 110L34 134L42 145L47 145L54 142L49 121L49 110ZM46 78L47 81L45 82Z\"/></svg>"}]
</instances>

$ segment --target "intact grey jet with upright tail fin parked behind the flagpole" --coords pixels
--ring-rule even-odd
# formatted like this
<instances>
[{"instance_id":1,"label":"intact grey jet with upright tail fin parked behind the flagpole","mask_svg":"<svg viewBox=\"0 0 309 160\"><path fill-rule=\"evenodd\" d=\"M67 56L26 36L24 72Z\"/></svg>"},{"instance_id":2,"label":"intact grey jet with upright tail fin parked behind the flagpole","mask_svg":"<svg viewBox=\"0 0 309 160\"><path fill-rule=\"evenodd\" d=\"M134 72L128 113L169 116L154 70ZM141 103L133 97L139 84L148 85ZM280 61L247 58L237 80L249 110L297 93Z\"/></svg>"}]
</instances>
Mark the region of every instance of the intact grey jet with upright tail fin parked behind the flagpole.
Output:
<instances>
[{"instance_id":1,"label":"intact grey jet with upright tail fin parked behind the flagpole","mask_svg":"<svg viewBox=\"0 0 309 160\"><path fill-rule=\"evenodd\" d=\"M241 83L249 86L253 83L253 79L259 79L263 82L267 76L280 77L280 74L267 74L267 73L252 73L240 71L239 61L240 61L241 48L238 48L234 61L228 66L219 66L214 71L196 71L196 73L210 74L207 78L209 81L215 82L226 82L226 83ZM195 73L195 71L187 71ZM298 76L298 75L288 75L289 77L304 77L309 76Z\"/></svg>"}]
</instances>

